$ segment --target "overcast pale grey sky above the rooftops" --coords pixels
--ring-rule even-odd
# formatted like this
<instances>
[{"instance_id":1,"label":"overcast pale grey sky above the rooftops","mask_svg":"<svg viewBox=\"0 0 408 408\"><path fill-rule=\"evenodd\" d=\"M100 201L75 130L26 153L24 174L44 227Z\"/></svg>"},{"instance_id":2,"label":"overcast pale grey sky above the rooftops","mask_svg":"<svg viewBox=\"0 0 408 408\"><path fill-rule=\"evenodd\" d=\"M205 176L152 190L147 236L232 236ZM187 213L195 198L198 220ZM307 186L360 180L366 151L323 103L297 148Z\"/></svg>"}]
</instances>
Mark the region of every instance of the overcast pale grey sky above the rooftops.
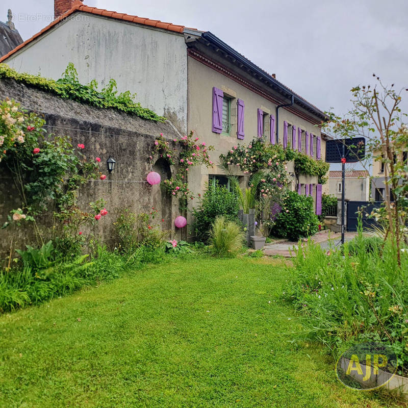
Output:
<instances>
[{"instance_id":1,"label":"overcast pale grey sky above the rooftops","mask_svg":"<svg viewBox=\"0 0 408 408\"><path fill-rule=\"evenodd\" d=\"M53 18L53 0L2 0L23 39ZM321 110L342 114L352 86L408 87L407 0L84 0L84 4L211 31Z\"/></svg>"}]
</instances>

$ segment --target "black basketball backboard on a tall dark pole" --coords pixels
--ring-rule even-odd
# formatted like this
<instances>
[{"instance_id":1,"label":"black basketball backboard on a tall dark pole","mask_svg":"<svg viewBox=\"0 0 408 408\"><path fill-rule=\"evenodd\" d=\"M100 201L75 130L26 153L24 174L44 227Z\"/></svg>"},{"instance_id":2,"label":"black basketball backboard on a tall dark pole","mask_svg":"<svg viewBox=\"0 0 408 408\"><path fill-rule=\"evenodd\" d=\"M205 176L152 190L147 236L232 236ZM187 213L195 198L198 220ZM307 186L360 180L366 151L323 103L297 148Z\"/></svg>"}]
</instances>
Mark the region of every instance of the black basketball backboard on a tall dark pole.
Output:
<instances>
[{"instance_id":1,"label":"black basketball backboard on a tall dark pole","mask_svg":"<svg viewBox=\"0 0 408 408\"><path fill-rule=\"evenodd\" d=\"M341 243L344 244L344 210L345 210L345 175L346 163L356 163L365 158L366 139L354 137L350 139L327 140L326 162L341 163Z\"/></svg>"}]
</instances>

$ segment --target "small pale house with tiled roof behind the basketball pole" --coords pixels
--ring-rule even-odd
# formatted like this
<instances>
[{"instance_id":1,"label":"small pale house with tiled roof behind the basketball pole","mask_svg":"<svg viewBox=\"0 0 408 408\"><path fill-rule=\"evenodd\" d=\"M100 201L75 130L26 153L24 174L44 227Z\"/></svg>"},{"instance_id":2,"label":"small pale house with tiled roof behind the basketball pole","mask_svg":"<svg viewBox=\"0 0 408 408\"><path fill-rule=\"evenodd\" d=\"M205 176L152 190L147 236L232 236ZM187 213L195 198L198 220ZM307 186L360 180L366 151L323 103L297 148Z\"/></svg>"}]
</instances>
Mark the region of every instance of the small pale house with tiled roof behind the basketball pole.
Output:
<instances>
[{"instance_id":1,"label":"small pale house with tiled roof behind the basketball pole","mask_svg":"<svg viewBox=\"0 0 408 408\"><path fill-rule=\"evenodd\" d=\"M328 193L341 199L341 170L329 172ZM366 170L346 171L344 196L350 201L368 201L370 198L370 174Z\"/></svg>"}]
</instances>

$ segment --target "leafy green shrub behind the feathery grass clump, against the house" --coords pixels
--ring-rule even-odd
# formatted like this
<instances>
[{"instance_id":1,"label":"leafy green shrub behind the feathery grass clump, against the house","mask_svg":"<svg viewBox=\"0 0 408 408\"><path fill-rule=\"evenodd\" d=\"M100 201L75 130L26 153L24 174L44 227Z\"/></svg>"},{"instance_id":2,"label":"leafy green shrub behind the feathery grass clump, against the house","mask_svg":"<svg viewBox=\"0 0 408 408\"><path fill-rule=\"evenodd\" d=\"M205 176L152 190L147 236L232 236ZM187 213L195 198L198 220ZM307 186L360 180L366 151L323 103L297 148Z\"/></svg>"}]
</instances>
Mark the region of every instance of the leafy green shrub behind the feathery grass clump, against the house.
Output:
<instances>
[{"instance_id":1,"label":"leafy green shrub behind the feathery grass clump, against the house","mask_svg":"<svg viewBox=\"0 0 408 408\"><path fill-rule=\"evenodd\" d=\"M200 205L193 209L195 221L193 231L199 241L207 242L209 239L211 224L217 216L224 216L226 221L238 220L239 204L237 196L225 187L215 185L208 186L203 194Z\"/></svg>"}]
</instances>

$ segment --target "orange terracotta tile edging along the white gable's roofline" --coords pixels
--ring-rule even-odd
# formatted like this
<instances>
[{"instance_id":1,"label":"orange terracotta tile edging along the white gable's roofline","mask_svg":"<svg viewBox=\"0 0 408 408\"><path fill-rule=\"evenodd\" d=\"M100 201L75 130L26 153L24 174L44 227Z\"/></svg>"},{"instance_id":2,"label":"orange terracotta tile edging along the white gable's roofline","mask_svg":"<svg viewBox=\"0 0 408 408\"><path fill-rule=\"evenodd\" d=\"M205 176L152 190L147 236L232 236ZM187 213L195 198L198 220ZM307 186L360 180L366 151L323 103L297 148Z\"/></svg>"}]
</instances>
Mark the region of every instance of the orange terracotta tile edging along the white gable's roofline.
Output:
<instances>
[{"instance_id":1,"label":"orange terracotta tile edging along the white gable's roofline","mask_svg":"<svg viewBox=\"0 0 408 408\"><path fill-rule=\"evenodd\" d=\"M169 30L173 31L176 33L183 33L184 31L184 25L177 25L173 24L171 22L163 22L160 20L151 20L150 18L143 18L143 17L138 17L138 16L133 16L130 14L124 14L124 13L116 13L115 11L108 11L105 9L98 9L97 7L88 7L80 0L78 0L77 4L75 4L70 10L68 10L65 14L57 17L52 23L48 24L47 27L44 27L40 32L37 34L34 34L31 38L28 40L25 40L23 43L18 45L16 48L12 49L8 54L0 58L0 62L3 62L7 58L9 58L11 55L16 53L20 48L24 47L25 45L29 44L31 41L35 40L37 37L39 37L41 34L45 33L46 31L52 29L55 25L57 25L60 21L65 20L67 17L69 17L71 14L81 11L83 13L90 13L90 14L95 14L95 15L100 15L100 16L105 16L105 17L111 17L115 18L117 20L123 20L123 21L130 21L134 22L137 24L143 24L143 25L150 25L150 27L156 27L159 29L164 29L164 30ZM195 30L195 29L189 29L189 30Z\"/></svg>"}]
</instances>

